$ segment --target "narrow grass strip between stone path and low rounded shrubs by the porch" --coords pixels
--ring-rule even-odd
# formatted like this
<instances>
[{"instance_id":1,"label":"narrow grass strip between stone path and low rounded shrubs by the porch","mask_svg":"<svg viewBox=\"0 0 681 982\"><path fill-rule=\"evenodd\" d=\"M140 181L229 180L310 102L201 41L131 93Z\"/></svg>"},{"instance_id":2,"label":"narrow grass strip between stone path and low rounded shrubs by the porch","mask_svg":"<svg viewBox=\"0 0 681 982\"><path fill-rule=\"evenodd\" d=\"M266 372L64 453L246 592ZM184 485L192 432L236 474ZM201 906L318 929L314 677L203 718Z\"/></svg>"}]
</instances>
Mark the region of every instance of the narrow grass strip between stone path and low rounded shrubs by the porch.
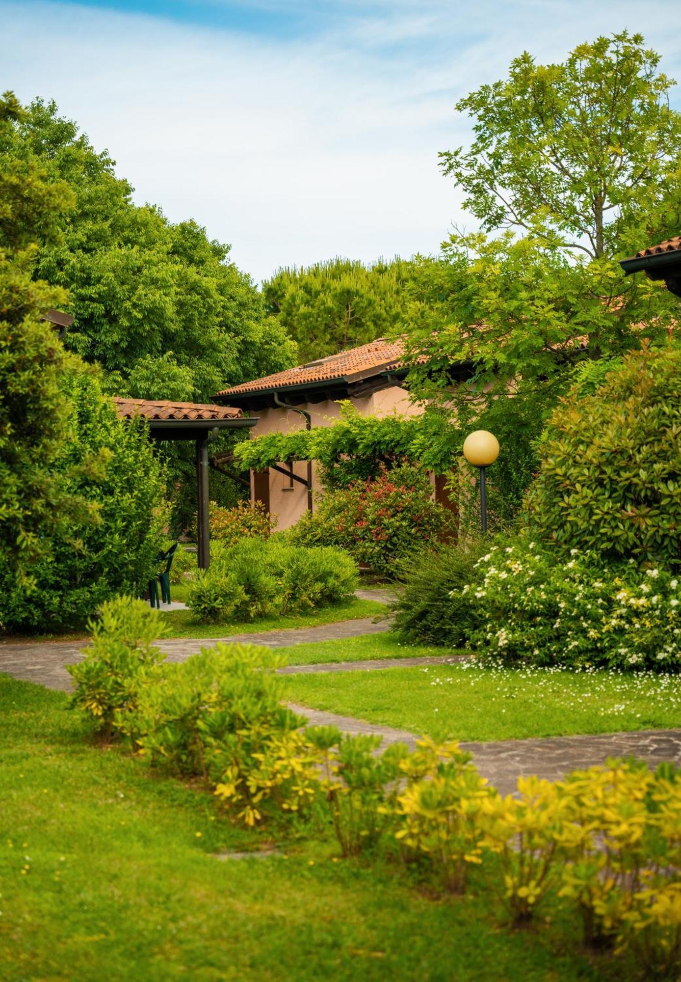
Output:
<instances>
[{"instance_id":1,"label":"narrow grass strip between stone path and low rounded shrubs by the porch","mask_svg":"<svg viewBox=\"0 0 681 982\"><path fill-rule=\"evenodd\" d=\"M175 596L173 590L171 596ZM225 621L221 624L205 625L201 624L191 611L162 611L161 617L169 627L169 637L228 637L230 634L252 634L263 630L284 630L287 627L338 624L340 621L353 621L355 618L382 617L385 613L385 604L377 600L358 600L355 597L346 604L323 607L312 614L259 618L247 624L240 621Z\"/></svg>"}]
</instances>

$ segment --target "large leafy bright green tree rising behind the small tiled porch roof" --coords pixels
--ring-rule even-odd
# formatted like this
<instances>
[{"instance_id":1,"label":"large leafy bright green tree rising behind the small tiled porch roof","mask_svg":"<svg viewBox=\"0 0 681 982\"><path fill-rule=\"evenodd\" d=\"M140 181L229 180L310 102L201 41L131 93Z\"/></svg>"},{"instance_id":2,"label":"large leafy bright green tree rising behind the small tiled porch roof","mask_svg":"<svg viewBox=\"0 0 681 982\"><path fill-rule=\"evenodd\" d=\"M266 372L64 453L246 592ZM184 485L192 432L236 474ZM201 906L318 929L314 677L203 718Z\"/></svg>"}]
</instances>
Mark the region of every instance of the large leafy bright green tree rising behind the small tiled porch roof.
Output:
<instances>
[{"instance_id":1,"label":"large leafy bright green tree rising behind the small tiled porch roof","mask_svg":"<svg viewBox=\"0 0 681 982\"><path fill-rule=\"evenodd\" d=\"M135 205L108 152L95 151L54 102L38 99L14 119L0 154L11 166L39 161L52 185L74 195L35 276L69 290L66 344L99 362L119 394L207 400L292 363L293 346L230 261L230 246L193 221L176 225Z\"/></svg>"}]
</instances>

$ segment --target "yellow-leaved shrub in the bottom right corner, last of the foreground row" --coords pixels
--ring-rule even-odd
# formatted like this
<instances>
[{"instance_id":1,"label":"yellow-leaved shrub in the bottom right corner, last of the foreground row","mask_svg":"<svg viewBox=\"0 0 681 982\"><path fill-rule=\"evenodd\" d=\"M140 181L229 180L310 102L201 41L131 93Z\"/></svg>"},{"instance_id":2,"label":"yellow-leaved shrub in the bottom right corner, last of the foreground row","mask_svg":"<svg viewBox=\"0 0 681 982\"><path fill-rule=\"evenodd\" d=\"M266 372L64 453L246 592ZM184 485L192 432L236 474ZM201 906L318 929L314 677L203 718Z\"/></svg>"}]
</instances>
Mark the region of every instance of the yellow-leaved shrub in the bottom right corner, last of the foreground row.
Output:
<instances>
[{"instance_id":1,"label":"yellow-leaved shrub in the bottom right corner, last of the foreground row","mask_svg":"<svg viewBox=\"0 0 681 982\"><path fill-rule=\"evenodd\" d=\"M678 772L613 760L557 789L572 837L559 895L576 901L585 940L630 949L651 972L681 967L681 898L670 889L681 874Z\"/></svg>"}]
</instances>

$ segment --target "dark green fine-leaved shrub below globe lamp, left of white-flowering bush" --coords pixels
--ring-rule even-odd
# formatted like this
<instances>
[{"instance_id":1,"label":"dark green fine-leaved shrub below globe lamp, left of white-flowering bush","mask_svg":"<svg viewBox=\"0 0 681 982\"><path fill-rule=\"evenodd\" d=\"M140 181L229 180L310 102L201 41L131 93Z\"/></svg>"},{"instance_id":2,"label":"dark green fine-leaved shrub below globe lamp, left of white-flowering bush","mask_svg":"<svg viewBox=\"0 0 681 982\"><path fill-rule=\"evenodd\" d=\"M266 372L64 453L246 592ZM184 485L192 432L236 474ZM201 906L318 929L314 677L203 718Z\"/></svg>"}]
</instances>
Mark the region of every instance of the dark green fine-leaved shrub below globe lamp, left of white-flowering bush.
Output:
<instances>
[{"instance_id":1,"label":"dark green fine-leaved shrub below globe lamp, left of white-flowering bush","mask_svg":"<svg viewBox=\"0 0 681 982\"><path fill-rule=\"evenodd\" d=\"M479 540L442 545L401 565L403 588L393 602L393 626L403 639L465 647L484 611L471 604L463 587L480 576L476 563L486 545Z\"/></svg>"}]
</instances>

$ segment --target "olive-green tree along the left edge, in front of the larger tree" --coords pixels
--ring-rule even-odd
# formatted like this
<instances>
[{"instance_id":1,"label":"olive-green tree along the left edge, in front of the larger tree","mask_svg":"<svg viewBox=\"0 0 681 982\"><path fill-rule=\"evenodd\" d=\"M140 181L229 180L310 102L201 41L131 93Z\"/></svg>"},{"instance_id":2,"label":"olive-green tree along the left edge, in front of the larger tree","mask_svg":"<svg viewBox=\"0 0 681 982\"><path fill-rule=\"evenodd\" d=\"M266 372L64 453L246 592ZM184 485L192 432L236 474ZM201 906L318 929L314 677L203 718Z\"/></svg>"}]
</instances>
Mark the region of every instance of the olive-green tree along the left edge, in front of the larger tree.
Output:
<instances>
[{"instance_id":1,"label":"olive-green tree along the left edge, in front of the larger tree","mask_svg":"<svg viewBox=\"0 0 681 982\"><path fill-rule=\"evenodd\" d=\"M12 93L0 98L0 141L21 120ZM59 386L69 356L41 314L66 294L32 279L38 242L56 242L73 195L33 155L0 155L0 569L20 576L46 536L78 502L52 464L66 437L69 401Z\"/></svg>"}]
</instances>

